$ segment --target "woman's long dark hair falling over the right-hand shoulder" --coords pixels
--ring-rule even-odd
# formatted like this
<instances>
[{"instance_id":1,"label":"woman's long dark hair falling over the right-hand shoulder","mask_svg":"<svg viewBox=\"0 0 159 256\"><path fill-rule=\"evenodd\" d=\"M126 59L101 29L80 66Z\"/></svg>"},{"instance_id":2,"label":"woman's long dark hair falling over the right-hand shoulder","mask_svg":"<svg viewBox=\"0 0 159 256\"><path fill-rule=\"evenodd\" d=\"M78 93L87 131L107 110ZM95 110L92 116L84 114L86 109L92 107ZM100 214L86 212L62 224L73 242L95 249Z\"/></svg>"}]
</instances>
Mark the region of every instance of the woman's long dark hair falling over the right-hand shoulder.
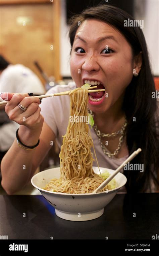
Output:
<instances>
[{"instance_id":1,"label":"woman's long dark hair falling over the right-hand shoulder","mask_svg":"<svg viewBox=\"0 0 159 256\"><path fill-rule=\"evenodd\" d=\"M88 19L104 21L118 29L131 45L134 57L142 51L142 68L139 75L133 76L131 83L126 88L123 110L128 122L125 136L129 154L138 148L142 149L142 152L131 163L144 164L144 171L124 170L124 174L127 178L127 192L146 192L148 190L151 192L151 181L158 184L159 134L157 134L157 122L159 120L155 118L157 99L152 99L155 85L144 34L138 26L124 27L125 20L134 20L125 11L111 5L98 5L87 8L70 20L71 50L79 22L82 24Z\"/></svg>"}]
</instances>

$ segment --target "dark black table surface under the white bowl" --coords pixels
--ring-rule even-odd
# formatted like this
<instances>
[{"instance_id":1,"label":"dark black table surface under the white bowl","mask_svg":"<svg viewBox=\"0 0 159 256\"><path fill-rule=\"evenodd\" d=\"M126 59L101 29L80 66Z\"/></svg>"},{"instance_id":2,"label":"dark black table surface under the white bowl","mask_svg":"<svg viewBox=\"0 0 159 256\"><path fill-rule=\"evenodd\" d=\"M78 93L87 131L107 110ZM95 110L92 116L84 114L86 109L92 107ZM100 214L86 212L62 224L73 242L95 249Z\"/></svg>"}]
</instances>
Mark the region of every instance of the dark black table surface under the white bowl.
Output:
<instances>
[{"instance_id":1,"label":"dark black table surface under the white bowl","mask_svg":"<svg viewBox=\"0 0 159 256\"><path fill-rule=\"evenodd\" d=\"M159 234L158 204L159 193L117 194L98 219L73 222L57 217L41 195L0 195L0 235L8 239L152 239Z\"/></svg>"}]
</instances>

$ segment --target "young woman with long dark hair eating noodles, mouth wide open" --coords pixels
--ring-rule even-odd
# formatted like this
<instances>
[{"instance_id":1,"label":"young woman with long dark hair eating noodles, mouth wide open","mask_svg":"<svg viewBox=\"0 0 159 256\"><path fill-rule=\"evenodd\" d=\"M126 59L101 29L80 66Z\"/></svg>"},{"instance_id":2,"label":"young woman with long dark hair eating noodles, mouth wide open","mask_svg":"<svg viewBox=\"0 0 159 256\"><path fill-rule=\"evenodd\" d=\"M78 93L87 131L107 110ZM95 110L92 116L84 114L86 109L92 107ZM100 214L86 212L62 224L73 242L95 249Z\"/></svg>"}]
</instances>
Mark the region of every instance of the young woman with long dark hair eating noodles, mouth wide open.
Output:
<instances>
[{"instance_id":1,"label":"young woman with long dark hair eating noodles, mouth wide open","mask_svg":"<svg viewBox=\"0 0 159 256\"><path fill-rule=\"evenodd\" d=\"M91 134L99 166L115 169L140 147L142 152L131 163L144 169L124 170L127 192L155 191L159 168L157 99L152 99L155 87L142 29L125 27L128 18L133 20L110 5L92 7L73 17L69 37L74 82L48 93L85 83L105 88L104 93L89 95L88 103L95 120ZM27 110L20 109L18 103ZM66 133L69 120L69 96L45 98L41 108L39 104L37 97L28 94L8 95L6 113L21 125L18 137L25 145L18 145L15 139L2 160L2 186L8 194L27 184L55 138L62 145L61 135ZM39 145L26 150L26 146L37 145L39 137Z\"/></svg>"}]
</instances>

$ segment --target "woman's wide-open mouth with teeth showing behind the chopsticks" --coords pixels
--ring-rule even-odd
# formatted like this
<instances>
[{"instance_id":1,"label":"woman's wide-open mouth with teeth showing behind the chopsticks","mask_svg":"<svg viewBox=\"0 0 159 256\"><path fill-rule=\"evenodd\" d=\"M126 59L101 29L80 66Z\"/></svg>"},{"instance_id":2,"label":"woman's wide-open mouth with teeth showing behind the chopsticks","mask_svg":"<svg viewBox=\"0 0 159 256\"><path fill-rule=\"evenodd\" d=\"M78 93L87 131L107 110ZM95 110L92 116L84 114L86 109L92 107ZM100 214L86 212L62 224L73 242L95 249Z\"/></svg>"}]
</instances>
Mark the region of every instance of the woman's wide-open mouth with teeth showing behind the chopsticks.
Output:
<instances>
[{"instance_id":1,"label":"woman's wide-open mouth with teeth showing behind the chopsticks","mask_svg":"<svg viewBox=\"0 0 159 256\"><path fill-rule=\"evenodd\" d=\"M97 86L97 89L105 89L104 85L102 85L99 81L93 80L85 80L85 84L90 84L92 86ZM89 103L92 105L99 105L103 102L105 98L105 91L103 92L93 92L89 93Z\"/></svg>"}]
</instances>

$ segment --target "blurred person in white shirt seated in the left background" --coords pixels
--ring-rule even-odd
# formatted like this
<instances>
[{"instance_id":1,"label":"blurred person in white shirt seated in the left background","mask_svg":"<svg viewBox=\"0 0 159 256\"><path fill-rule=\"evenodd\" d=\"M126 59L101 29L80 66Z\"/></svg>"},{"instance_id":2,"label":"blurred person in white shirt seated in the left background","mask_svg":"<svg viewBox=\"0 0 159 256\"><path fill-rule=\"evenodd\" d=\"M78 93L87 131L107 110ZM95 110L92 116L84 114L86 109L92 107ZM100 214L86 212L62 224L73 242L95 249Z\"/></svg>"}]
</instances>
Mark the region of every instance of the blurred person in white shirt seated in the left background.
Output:
<instances>
[{"instance_id":1,"label":"blurred person in white shirt seated in the left background","mask_svg":"<svg viewBox=\"0 0 159 256\"><path fill-rule=\"evenodd\" d=\"M45 94L45 88L38 76L22 64L11 64L0 55L0 92ZM31 95L31 94L30 94ZM0 98L2 101L2 98ZM15 132L19 128L5 113L5 105L0 106L0 163L11 147Z\"/></svg>"}]
</instances>

